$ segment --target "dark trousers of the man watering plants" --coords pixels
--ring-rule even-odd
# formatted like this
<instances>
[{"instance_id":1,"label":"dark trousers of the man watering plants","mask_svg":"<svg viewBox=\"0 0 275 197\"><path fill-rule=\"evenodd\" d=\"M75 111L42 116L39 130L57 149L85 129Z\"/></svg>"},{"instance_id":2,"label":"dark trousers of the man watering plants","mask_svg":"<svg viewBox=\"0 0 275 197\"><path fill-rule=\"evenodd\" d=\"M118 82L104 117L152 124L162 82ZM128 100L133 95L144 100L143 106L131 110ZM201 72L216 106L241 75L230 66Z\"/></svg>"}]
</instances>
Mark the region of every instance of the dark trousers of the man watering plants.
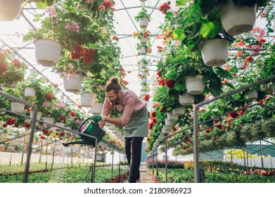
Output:
<instances>
[{"instance_id":1,"label":"dark trousers of the man watering plants","mask_svg":"<svg viewBox=\"0 0 275 197\"><path fill-rule=\"evenodd\" d=\"M141 165L141 146L143 136L125 137L125 152L130 168L129 182L135 183L139 179L139 166Z\"/></svg>"}]
</instances>

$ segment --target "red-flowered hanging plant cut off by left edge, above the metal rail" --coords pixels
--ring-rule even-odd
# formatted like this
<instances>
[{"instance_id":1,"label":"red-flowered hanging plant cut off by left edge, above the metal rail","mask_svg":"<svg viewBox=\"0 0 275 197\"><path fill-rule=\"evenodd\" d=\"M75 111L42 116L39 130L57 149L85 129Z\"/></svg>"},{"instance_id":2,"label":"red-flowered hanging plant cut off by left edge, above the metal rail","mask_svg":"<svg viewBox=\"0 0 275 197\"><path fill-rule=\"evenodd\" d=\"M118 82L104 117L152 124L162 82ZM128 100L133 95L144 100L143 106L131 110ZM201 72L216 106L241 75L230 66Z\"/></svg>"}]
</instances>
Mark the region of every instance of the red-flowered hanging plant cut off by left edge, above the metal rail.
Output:
<instances>
[{"instance_id":1,"label":"red-flowered hanging plant cut off by left edge, above the metal rail","mask_svg":"<svg viewBox=\"0 0 275 197\"><path fill-rule=\"evenodd\" d=\"M12 58L11 51L0 49L0 65L0 84L15 88L24 79L27 66Z\"/></svg>"}]
</instances>

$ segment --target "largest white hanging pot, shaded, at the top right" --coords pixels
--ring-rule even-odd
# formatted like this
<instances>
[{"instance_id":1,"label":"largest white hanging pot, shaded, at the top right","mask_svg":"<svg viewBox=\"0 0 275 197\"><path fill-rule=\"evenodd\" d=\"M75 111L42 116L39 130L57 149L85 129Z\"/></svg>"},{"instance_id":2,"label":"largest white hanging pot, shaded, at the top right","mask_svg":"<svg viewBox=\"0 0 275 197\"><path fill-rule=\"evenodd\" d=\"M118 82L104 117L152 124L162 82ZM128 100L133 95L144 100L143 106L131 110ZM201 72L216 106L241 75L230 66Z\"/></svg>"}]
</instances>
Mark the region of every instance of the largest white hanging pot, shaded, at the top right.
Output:
<instances>
[{"instance_id":1,"label":"largest white hanging pot, shaded, at the top right","mask_svg":"<svg viewBox=\"0 0 275 197\"><path fill-rule=\"evenodd\" d=\"M255 6L235 6L232 0L219 7L222 27L231 36L249 32L256 20Z\"/></svg>"}]
</instances>

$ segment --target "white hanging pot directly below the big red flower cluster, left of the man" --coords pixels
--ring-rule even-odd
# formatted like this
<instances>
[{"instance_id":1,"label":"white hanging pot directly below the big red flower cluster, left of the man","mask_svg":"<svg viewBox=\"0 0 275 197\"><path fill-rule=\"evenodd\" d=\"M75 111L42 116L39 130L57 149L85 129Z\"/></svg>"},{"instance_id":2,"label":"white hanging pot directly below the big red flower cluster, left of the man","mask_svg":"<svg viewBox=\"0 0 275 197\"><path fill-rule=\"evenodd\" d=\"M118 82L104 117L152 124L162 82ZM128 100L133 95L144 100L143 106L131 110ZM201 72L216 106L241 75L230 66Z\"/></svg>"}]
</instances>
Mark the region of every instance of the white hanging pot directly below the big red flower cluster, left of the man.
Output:
<instances>
[{"instance_id":1,"label":"white hanging pot directly below the big red flower cluster, left of the man","mask_svg":"<svg viewBox=\"0 0 275 197\"><path fill-rule=\"evenodd\" d=\"M63 85L64 85L65 91L69 91L69 92L79 91L82 86L82 80L83 80L83 76L79 74L73 75L69 78L67 76L64 76Z\"/></svg>"}]
</instances>

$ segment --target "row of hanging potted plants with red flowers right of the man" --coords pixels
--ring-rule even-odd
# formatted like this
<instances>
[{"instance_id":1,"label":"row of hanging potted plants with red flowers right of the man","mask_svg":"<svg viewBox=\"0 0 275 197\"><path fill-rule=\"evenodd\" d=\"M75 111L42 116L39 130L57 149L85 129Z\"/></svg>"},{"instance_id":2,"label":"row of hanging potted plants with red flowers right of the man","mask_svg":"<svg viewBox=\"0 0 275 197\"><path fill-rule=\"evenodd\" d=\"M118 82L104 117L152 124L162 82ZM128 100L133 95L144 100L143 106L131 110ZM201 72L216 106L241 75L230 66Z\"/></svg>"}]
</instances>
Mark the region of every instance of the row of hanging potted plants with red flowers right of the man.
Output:
<instances>
[{"instance_id":1,"label":"row of hanging potted plants with red flowers right of the man","mask_svg":"<svg viewBox=\"0 0 275 197\"><path fill-rule=\"evenodd\" d=\"M267 3L269 4L267 5ZM209 2L200 0L188 1L185 4L183 1L177 1L177 6L179 6L177 11L172 11L169 5L168 1L162 4L161 9L165 14L165 23L160 26L162 31L160 38L164 43L164 46L161 47L165 50L161 53L162 58L158 61L156 75L158 85L153 97L153 111L150 115L147 153L163 142L164 134L172 134L193 125L193 104L213 96L226 94L226 92L270 77L275 73L273 65L275 60L274 41L272 38L265 38L266 35L269 36L270 32L274 32L270 22L274 18L271 2L231 0ZM229 11L223 10L225 6L238 9L244 6L248 10L252 8L253 15L256 15L256 8L266 7L267 13L261 20L267 20L267 26L264 29L261 27L253 29L256 18L248 25L248 23L243 23L243 18L239 19L240 16L238 16L237 27L226 27L223 15ZM238 15L237 13L231 17L235 17ZM251 19L251 17L249 18ZM233 22L231 19L229 25L233 25ZM242 23L243 25L240 25ZM173 44L173 40L179 40L181 45ZM219 41L222 43L217 44ZM206 46L210 42L217 45L214 48ZM223 46L224 49L220 49L219 46ZM236 50L229 52L229 48ZM205 55L205 52L210 52L210 58ZM218 56L220 52L222 52L222 56ZM236 65L238 58L241 59L241 69ZM250 105L252 101L274 107L273 82L261 84L250 90L255 91L256 95L249 97L249 92L245 91L201 108L200 122L238 110L238 108ZM212 120L205 125L200 125L199 144L206 144L200 146L200 151L211 151L226 146L244 146L248 141L257 140L247 135L245 131L242 132L242 128L252 120L272 121L270 118L273 116L270 108L257 107L261 108L261 113L252 107L251 110L245 110L245 114L243 111L237 111L238 117L228 114L219 120ZM181 113L177 112L179 109L181 109ZM253 116L255 111L257 111L257 118ZM230 124L226 125L226 121ZM232 129L233 127L236 130ZM269 129L269 132L265 134L270 136L271 131ZM191 153L192 134L192 130L188 129L173 136L174 139L179 137L176 141L179 146L177 146L175 154ZM257 136L257 134L255 135ZM234 140L227 144L224 141L217 143L219 138ZM260 139L264 139L264 136L261 136ZM173 143L174 141L171 142L171 144Z\"/></svg>"}]
</instances>

